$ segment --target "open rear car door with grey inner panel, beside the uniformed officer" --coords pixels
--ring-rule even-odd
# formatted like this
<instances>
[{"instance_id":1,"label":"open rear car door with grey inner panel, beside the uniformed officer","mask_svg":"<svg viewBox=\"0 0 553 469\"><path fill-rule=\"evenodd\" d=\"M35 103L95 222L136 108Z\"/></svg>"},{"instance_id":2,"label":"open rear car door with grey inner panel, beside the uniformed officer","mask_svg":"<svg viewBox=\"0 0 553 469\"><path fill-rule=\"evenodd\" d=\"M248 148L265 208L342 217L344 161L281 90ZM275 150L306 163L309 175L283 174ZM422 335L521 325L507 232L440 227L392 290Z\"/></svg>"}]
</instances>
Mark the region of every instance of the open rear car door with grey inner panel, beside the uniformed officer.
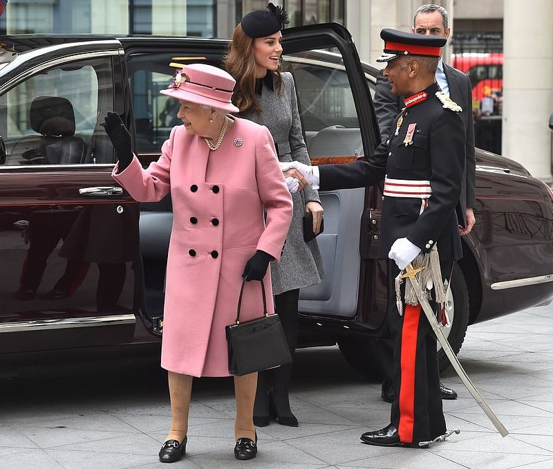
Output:
<instances>
[{"instance_id":1,"label":"open rear car door with grey inner panel, beside the uniformed officer","mask_svg":"<svg viewBox=\"0 0 553 469\"><path fill-rule=\"evenodd\" d=\"M283 68L294 75L306 144L313 165L349 163L379 142L371 95L348 30L317 24L283 30ZM299 311L313 318L361 317L371 308L378 240L377 190L321 192L324 233L317 237L326 271L303 288ZM386 299L384 298L384 302ZM365 321L366 322L366 321Z\"/></svg>"}]
</instances>

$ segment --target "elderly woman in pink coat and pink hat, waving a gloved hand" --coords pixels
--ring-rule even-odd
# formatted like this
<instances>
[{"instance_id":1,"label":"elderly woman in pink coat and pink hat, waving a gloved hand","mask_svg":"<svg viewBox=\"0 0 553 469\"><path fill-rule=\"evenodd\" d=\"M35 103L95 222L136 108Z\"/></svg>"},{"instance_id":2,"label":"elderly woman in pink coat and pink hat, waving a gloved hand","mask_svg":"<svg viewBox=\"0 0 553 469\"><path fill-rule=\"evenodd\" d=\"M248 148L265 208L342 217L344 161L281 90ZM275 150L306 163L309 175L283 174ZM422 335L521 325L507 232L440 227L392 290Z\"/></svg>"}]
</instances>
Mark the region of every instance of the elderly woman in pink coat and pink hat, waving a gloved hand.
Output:
<instances>
[{"instance_id":1,"label":"elderly woman in pink coat and pink hat, waving a gloved hand","mask_svg":"<svg viewBox=\"0 0 553 469\"><path fill-rule=\"evenodd\" d=\"M192 378L229 376L225 326L234 322L242 279L262 280L271 291L267 268L279 260L292 217L268 129L228 114L238 111L231 103L234 84L231 75L206 64L176 73L161 93L180 102L183 125L171 130L159 160L147 169L133 156L119 116L106 117L119 159L113 178L137 201L160 201L171 192L173 202L161 356L172 421L162 462L185 454ZM243 320L261 315L260 290L257 282L246 284ZM257 452L256 382L256 373L234 376L237 459Z\"/></svg>"}]
</instances>

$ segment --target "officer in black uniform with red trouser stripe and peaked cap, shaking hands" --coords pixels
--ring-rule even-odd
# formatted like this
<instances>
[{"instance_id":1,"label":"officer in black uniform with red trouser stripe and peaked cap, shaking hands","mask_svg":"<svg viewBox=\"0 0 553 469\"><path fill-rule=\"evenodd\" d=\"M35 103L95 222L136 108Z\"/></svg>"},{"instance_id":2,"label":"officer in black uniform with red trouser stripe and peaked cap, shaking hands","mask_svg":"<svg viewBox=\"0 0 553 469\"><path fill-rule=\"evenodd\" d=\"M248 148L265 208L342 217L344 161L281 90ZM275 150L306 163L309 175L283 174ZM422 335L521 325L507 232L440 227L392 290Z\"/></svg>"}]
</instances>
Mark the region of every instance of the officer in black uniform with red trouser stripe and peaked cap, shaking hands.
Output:
<instances>
[{"instance_id":1,"label":"officer in black uniform with red trouser stripe and peaked cap, shaking hands","mask_svg":"<svg viewBox=\"0 0 553 469\"><path fill-rule=\"evenodd\" d=\"M293 165L321 190L366 187L384 179L379 257L391 259L388 315L395 398L391 423L361 439L371 445L419 447L446 430L436 340L420 305L403 305L400 315L394 279L434 245L444 277L462 256L456 207L465 169L465 125L460 107L435 82L446 39L391 29L382 30L380 37L385 42L378 59L387 62L384 76L395 95L406 97L388 140L366 161Z\"/></svg>"}]
</instances>

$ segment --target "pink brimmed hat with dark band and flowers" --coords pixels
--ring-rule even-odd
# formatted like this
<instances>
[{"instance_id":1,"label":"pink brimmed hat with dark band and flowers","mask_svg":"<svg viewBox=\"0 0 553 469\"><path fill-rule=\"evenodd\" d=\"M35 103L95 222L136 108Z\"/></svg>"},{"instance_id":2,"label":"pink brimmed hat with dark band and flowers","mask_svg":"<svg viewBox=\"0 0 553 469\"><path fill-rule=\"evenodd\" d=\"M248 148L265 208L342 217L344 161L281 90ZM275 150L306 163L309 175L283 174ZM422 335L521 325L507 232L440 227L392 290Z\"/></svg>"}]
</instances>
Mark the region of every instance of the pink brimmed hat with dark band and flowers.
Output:
<instances>
[{"instance_id":1,"label":"pink brimmed hat with dark band and flowers","mask_svg":"<svg viewBox=\"0 0 553 469\"><path fill-rule=\"evenodd\" d=\"M189 64L178 71L160 93L178 100L196 102L205 106L238 112L231 102L236 80L229 73L207 64Z\"/></svg>"}]
</instances>

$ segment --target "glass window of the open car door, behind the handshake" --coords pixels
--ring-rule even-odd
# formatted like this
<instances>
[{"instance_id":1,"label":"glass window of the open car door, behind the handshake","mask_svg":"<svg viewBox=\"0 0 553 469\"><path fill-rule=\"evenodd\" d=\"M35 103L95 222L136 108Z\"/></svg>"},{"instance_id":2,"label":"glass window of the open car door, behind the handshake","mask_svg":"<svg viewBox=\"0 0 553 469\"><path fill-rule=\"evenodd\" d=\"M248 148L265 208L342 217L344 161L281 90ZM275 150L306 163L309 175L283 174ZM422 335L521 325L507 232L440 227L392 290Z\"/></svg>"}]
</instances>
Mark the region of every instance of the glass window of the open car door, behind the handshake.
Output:
<instances>
[{"instance_id":1,"label":"glass window of the open car door, behind the handshake","mask_svg":"<svg viewBox=\"0 0 553 469\"><path fill-rule=\"evenodd\" d=\"M301 54L283 57L294 75L298 108L310 158L364 155L357 109L339 57L332 62ZM325 57L326 58L326 57Z\"/></svg>"}]
</instances>

